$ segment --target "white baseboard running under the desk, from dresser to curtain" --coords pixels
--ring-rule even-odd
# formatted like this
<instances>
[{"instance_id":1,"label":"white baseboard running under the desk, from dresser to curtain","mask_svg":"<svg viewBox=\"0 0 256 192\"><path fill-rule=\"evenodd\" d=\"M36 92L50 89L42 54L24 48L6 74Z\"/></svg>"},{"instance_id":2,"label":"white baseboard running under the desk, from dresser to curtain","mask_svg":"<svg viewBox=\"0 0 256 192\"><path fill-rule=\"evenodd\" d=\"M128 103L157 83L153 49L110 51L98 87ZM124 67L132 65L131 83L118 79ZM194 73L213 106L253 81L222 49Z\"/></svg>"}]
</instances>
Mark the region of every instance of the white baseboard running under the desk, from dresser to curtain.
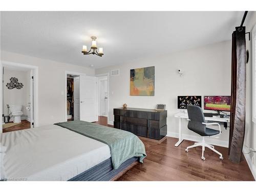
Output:
<instances>
[{"instance_id":1,"label":"white baseboard running under the desk, from dresser to curtain","mask_svg":"<svg viewBox=\"0 0 256 192\"><path fill-rule=\"evenodd\" d=\"M174 137L174 138L179 138L179 133L175 132L167 132L168 137ZM195 141L195 142L200 142L202 141L202 137L199 136L194 136L194 135L187 135L187 134L182 134L182 138L185 140L189 141ZM220 141L215 138L205 138L205 142L211 145L217 145L217 146L223 146L223 147L228 147L228 141Z\"/></svg>"}]
</instances>

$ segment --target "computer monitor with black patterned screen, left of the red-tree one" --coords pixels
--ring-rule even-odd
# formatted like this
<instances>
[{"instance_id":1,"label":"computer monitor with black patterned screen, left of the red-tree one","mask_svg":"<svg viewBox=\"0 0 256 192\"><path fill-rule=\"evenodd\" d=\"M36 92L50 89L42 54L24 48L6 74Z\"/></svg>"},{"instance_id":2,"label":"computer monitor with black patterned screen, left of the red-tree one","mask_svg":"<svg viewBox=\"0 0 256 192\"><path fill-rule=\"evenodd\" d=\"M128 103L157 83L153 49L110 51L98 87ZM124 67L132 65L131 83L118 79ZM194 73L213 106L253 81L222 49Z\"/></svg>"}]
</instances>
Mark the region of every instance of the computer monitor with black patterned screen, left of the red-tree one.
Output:
<instances>
[{"instance_id":1,"label":"computer monitor with black patterned screen, left of the red-tree one","mask_svg":"<svg viewBox=\"0 0 256 192\"><path fill-rule=\"evenodd\" d=\"M197 105L202 107L201 96L178 96L178 109L187 109L187 105Z\"/></svg>"}]
</instances>

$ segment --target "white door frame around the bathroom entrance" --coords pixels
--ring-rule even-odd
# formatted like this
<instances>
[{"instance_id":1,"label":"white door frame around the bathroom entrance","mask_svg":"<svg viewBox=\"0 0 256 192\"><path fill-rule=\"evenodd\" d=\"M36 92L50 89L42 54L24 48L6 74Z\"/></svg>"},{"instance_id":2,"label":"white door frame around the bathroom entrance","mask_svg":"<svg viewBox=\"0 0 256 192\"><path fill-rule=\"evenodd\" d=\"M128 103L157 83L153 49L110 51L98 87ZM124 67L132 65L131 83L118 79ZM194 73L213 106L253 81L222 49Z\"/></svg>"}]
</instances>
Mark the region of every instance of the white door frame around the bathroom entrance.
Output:
<instances>
[{"instance_id":1,"label":"white door frame around the bathroom entrance","mask_svg":"<svg viewBox=\"0 0 256 192\"><path fill-rule=\"evenodd\" d=\"M31 65L27 65L27 64L23 64L23 63L17 63L17 62L10 62L10 61L4 61L1 60L0 61L0 68L1 68L1 79L3 78L3 67L22 67L22 68L27 68L33 71L33 80L34 80L34 89L33 89L33 122L34 122L34 127L39 126L38 124L38 67L37 66L31 66ZM0 104L0 114L2 116L3 114L3 106L2 106L2 95L3 95L3 83L0 83L0 100L1 100L1 104ZM0 124L2 126L3 124L3 118L0 118ZM0 133L3 133L3 126L0 129Z\"/></svg>"}]
</instances>

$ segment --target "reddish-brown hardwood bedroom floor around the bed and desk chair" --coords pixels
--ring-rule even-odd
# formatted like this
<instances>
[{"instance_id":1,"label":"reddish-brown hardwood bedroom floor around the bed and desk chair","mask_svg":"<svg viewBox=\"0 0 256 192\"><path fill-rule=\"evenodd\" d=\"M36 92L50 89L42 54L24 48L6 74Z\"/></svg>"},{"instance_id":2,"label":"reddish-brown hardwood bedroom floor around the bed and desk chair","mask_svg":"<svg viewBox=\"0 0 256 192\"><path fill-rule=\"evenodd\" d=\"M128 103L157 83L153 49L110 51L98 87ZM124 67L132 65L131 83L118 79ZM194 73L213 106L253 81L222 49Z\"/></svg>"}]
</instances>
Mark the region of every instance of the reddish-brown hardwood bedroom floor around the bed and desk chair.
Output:
<instances>
[{"instance_id":1,"label":"reddish-brown hardwood bedroom floor around the bed and desk chair","mask_svg":"<svg viewBox=\"0 0 256 192\"><path fill-rule=\"evenodd\" d=\"M102 116L96 123L108 125L107 118ZM172 137L161 143L143 137L140 139L146 148L144 163L132 167L118 181L254 181L244 156L240 164L232 163L225 147L216 146L224 160L206 148L206 160L203 161L201 147L185 152L186 146L194 144L192 141L184 140L175 147L178 139Z\"/></svg>"}]
</instances>

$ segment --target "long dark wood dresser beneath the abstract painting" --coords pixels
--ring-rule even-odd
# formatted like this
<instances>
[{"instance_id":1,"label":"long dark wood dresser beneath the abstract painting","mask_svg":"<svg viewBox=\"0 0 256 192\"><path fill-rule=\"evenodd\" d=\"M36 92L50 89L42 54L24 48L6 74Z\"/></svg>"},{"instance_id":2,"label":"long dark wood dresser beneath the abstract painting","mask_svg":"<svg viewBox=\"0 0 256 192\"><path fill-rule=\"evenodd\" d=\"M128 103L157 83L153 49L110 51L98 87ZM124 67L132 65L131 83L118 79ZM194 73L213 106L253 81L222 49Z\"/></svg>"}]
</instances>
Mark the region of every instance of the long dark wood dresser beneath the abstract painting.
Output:
<instances>
[{"instance_id":1,"label":"long dark wood dresser beneath the abstract painting","mask_svg":"<svg viewBox=\"0 0 256 192\"><path fill-rule=\"evenodd\" d=\"M139 108L114 109L114 127L135 135L162 139L167 135L167 111Z\"/></svg>"}]
</instances>

